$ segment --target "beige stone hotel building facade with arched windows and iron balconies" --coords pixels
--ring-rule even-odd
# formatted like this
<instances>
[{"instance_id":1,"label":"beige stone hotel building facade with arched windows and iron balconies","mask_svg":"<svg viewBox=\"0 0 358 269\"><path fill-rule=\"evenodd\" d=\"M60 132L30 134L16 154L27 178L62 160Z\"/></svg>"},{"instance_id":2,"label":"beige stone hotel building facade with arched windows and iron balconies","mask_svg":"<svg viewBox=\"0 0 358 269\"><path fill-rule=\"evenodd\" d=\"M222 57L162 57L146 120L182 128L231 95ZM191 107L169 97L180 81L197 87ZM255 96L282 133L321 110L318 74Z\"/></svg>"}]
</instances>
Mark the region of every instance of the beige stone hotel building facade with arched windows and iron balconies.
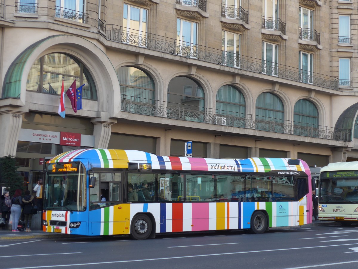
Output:
<instances>
[{"instance_id":1,"label":"beige stone hotel building facade with arched windows and iron balconies","mask_svg":"<svg viewBox=\"0 0 358 269\"><path fill-rule=\"evenodd\" d=\"M185 141L194 157L358 160L357 13L347 0L2 0L0 154L24 178L74 148L183 156ZM65 95L62 118L74 80L82 109Z\"/></svg>"}]
</instances>

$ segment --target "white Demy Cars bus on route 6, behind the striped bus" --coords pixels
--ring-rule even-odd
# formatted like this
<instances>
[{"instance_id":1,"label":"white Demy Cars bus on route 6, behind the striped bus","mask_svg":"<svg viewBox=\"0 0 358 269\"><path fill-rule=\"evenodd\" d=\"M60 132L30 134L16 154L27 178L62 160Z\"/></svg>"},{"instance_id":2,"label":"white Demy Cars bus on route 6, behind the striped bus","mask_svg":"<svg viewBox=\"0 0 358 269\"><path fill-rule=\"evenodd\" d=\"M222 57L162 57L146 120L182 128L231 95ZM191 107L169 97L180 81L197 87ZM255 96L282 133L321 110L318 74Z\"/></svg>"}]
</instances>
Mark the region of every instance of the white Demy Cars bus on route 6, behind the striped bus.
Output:
<instances>
[{"instance_id":1,"label":"white Demy Cars bus on route 6, behind the striped bus","mask_svg":"<svg viewBox=\"0 0 358 269\"><path fill-rule=\"evenodd\" d=\"M321 169L318 219L345 226L358 223L358 162L335 162Z\"/></svg>"}]
</instances>

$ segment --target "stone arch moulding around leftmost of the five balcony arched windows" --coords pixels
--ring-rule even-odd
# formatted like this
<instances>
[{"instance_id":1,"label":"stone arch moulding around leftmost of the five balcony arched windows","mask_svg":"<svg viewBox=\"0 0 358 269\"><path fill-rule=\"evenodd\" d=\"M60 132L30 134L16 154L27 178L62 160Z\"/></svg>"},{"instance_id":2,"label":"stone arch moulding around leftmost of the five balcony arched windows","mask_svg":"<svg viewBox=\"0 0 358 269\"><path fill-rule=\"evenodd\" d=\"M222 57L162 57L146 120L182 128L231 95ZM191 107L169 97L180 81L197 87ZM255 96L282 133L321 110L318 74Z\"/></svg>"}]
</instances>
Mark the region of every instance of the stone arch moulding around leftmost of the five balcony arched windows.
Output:
<instances>
[{"instance_id":1,"label":"stone arch moulding around leftmost of the five balcony arched windows","mask_svg":"<svg viewBox=\"0 0 358 269\"><path fill-rule=\"evenodd\" d=\"M155 85L155 99L156 100L163 100L165 93L164 93L164 87L163 87L163 78L161 77L159 71L152 65L150 65L147 62L141 62L140 64L138 61L122 61L118 63L118 65L115 67L115 71L117 74L117 70L122 66L133 66L138 69L142 69L143 71L147 72L151 78L154 81Z\"/></svg>"}]
</instances>

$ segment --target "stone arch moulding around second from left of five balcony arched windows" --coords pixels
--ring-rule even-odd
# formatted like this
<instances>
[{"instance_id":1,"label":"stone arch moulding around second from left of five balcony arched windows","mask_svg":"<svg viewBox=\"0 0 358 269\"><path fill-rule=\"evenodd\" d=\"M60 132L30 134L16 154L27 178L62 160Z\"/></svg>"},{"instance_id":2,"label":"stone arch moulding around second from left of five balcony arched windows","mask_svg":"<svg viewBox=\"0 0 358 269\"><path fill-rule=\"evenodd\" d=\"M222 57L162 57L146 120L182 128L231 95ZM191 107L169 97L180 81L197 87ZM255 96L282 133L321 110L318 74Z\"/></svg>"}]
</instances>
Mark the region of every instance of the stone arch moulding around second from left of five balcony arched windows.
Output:
<instances>
[{"instance_id":1,"label":"stone arch moulding around second from left of five balcony arched windows","mask_svg":"<svg viewBox=\"0 0 358 269\"><path fill-rule=\"evenodd\" d=\"M186 70L178 70L176 71L173 75L171 75L170 77L168 77L168 80L166 81L166 85L165 85L165 89L166 89L166 93L168 93L168 85L169 82L177 76L186 76L189 77L190 79L195 80L197 83L199 83L204 91L204 100L205 100L205 105L207 105L208 108L213 108L213 89L211 88L211 85L209 84L209 81L202 75L198 74L197 72L195 72L195 70L192 70L192 68L190 68L189 66L189 71ZM165 101L168 101L168 99L165 97Z\"/></svg>"}]
</instances>

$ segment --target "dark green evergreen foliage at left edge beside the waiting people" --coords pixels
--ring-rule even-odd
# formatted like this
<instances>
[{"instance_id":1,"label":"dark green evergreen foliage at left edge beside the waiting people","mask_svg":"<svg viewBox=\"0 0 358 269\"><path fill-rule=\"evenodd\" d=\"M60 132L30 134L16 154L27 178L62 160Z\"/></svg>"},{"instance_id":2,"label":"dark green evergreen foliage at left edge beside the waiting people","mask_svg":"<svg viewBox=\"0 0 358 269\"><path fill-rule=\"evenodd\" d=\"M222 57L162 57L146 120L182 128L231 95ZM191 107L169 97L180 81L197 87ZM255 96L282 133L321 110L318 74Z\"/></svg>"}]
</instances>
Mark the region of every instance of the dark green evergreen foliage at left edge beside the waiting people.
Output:
<instances>
[{"instance_id":1,"label":"dark green evergreen foliage at left edge beside the waiting people","mask_svg":"<svg viewBox=\"0 0 358 269\"><path fill-rule=\"evenodd\" d=\"M24 191L24 179L17 172L19 165L15 160L15 156L4 156L0 158L1 167L1 183L9 191L10 196L13 196L16 189Z\"/></svg>"}]
</instances>

